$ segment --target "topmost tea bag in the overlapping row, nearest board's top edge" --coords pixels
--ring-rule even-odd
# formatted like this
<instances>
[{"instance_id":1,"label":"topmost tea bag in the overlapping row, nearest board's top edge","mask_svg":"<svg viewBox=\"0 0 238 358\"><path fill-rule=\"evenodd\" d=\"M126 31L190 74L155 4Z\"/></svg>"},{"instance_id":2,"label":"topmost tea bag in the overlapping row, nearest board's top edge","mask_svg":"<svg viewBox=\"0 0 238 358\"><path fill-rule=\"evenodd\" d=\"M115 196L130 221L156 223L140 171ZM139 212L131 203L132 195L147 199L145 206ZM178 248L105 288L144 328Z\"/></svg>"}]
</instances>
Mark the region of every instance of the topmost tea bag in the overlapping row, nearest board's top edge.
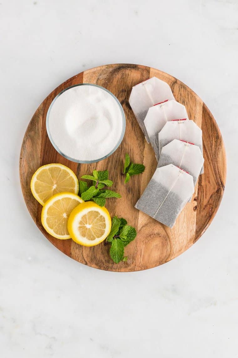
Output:
<instances>
[{"instance_id":1,"label":"topmost tea bag in the overlapping row, nearest board's top edge","mask_svg":"<svg viewBox=\"0 0 238 358\"><path fill-rule=\"evenodd\" d=\"M157 77L152 77L132 87L129 103L148 143L149 137L144 125L147 111L151 106L165 100L174 100L173 93L168 83Z\"/></svg>"}]
</instances>

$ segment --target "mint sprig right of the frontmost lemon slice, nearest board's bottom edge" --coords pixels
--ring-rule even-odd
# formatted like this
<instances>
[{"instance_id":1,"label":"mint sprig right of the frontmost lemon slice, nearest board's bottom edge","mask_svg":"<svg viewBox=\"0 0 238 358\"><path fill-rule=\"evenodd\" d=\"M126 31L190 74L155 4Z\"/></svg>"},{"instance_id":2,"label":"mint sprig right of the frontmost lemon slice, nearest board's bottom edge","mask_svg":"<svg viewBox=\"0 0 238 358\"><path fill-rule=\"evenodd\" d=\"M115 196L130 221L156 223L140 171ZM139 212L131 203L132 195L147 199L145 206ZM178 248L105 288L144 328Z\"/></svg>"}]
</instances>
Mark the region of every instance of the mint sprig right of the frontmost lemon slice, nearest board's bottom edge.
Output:
<instances>
[{"instance_id":1,"label":"mint sprig right of the frontmost lemon slice, nearest board's bottom edge","mask_svg":"<svg viewBox=\"0 0 238 358\"><path fill-rule=\"evenodd\" d=\"M136 229L127 225L126 219L119 219L117 216L112 218L111 231L106 241L111 243L110 255L114 262L127 261L127 256L124 256L124 247L135 237Z\"/></svg>"}]
</instances>

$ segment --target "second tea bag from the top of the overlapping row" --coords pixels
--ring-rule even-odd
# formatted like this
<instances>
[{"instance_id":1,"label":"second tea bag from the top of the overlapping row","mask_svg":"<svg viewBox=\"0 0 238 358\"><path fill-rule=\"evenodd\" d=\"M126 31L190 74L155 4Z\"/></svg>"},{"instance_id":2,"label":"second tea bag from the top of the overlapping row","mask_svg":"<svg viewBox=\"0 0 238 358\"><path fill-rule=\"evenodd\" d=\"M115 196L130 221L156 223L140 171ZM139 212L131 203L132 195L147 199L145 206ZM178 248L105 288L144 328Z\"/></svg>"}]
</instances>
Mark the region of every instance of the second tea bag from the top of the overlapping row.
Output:
<instances>
[{"instance_id":1,"label":"second tea bag from the top of the overlapping row","mask_svg":"<svg viewBox=\"0 0 238 358\"><path fill-rule=\"evenodd\" d=\"M188 119L185 106L175 100L164 101L148 109L144 125L157 160L159 159L158 133L166 122L174 119Z\"/></svg>"}]
</instances>

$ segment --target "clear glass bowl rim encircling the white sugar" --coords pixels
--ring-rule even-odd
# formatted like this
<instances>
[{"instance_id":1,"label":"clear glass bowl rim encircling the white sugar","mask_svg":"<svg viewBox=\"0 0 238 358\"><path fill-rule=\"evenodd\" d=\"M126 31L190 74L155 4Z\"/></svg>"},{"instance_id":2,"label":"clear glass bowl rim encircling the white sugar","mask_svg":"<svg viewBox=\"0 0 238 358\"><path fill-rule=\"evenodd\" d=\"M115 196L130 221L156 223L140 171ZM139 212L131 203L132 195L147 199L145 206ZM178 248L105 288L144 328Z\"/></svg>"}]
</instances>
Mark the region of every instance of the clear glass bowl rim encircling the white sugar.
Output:
<instances>
[{"instance_id":1,"label":"clear glass bowl rim encircling the white sugar","mask_svg":"<svg viewBox=\"0 0 238 358\"><path fill-rule=\"evenodd\" d=\"M65 153L62 153L62 151L59 149L59 147L55 144L54 140L52 139L51 137L51 134L50 134L50 128L49 128L49 117L50 117L50 111L51 111L51 108L52 106L54 105L54 102L56 101L56 99L62 95L62 93L64 93L65 91L67 91L68 89L72 88L72 87L77 87L77 86L94 86L94 87L99 87L101 89L103 89L104 91L106 91L107 93L109 93L117 102L118 104L118 107L120 108L120 111L121 111L121 117L122 117L122 132L121 132L121 136L120 136L120 139L118 140L117 144L115 145L115 147L110 151L110 153L108 153L107 155L103 156L102 158L99 158L99 159L95 159L95 160L79 160L79 159L75 159L75 158L71 158L70 156L66 155ZM106 159L108 158L112 153L115 152L115 150L119 147L119 145L121 144L122 142L122 139L125 135L125 130L126 130L126 117L125 117L125 113L123 111L123 108L121 106L121 103L118 101L118 99L110 92L108 91L106 88L104 87L101 87L101 86L98 86L97 84L92 84L92 83L79 83L79 84L75 84L74 86L70 86L70 87L67 87L65 89L63 89L63 91L61 91L55 98L54 100L51 102L50 104L50 107L47 111L47 115L46 115L46 131L47 131L47 134L48 134L48 137L51 141L51 144L52 146L57 150L57 152L59 154L61 154L63 157L65 157L66 159L69 159L71 161L74 161L76 163L85 163L85 164L90 164L90 163L96 163L97 161L100 161L100 160L103 160L103 159Z\"/></svg>"}]
</instances>

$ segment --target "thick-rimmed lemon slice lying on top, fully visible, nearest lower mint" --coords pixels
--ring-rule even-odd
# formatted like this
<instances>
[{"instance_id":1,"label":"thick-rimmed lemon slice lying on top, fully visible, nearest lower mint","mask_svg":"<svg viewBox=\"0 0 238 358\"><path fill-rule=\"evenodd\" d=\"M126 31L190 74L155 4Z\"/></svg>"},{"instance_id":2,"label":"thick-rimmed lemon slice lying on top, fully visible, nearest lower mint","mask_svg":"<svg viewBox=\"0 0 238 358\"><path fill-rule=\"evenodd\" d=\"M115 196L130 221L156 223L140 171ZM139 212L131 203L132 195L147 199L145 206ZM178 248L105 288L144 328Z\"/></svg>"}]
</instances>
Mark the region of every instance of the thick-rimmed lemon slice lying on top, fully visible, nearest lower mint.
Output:
<instances>
[{"instance_id":1,"label":"thick-rimmed lemon slice lying on top, fully visible, nearest lower mint","mask_svg":"<svg viewBox=\"0 0 238 358\"><path fill-rule=\"evenodd\" d=\"M111 226L107 209L90 201L77 206L68 220L70 236L83 246L95 246L105 240Z\"/></svg>"}]
</instances>

